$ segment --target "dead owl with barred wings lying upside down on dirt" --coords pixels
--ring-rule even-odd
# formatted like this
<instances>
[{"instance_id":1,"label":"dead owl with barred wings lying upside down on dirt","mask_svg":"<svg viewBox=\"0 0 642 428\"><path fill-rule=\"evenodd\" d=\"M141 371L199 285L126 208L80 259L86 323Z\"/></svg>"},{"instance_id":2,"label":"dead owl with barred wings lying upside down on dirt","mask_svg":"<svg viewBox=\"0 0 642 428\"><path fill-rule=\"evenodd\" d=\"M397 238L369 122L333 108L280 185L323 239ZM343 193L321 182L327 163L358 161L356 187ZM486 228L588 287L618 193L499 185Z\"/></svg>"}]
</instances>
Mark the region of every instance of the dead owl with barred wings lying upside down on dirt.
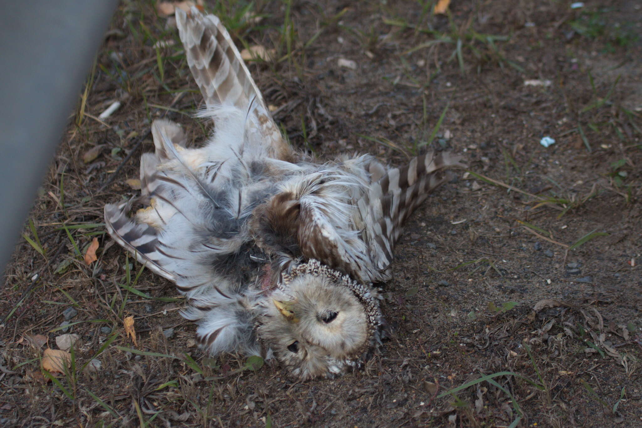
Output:
<instances>
[{"instance_id":1,"label":"dead owl with barred wings lying upside down on dirt","mask_svg":"<svg viewBox=\"0 0 642 428\"><path fill-rule=\"evenodd\" d=\"M360 366L383 332L372 282L390 278L404 221L460 158L388 169L293 151L219 19L176 15L215 132L187 148L180 126L155 121L141 196L105 207L109 234L176 284L210 354L273 355L301 379Z\"/></svg>"}]
</instances>

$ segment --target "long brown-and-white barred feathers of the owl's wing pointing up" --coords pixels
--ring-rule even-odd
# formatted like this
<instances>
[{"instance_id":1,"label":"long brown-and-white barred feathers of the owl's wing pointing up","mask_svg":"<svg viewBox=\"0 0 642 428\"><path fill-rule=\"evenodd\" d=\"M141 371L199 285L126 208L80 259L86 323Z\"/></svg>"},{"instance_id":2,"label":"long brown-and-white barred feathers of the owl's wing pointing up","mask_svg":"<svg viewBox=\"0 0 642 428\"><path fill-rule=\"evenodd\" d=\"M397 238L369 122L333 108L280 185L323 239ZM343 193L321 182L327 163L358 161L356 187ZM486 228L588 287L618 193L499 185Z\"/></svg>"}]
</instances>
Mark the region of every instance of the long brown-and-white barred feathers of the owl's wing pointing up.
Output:
<instances>
[{"instance_id":1,"label":"long brown-and-white barred feathers of the owl's wing pointing up","mask_svg":"<svg viewBox=\"0 0 642 428\"><path fill-rule=\"evenodd\" d=\"M256 130L268 146L268 155L290 160L291 148L220 19L204 17L196 8L191 8L189 15L177 8L176 17L187 64L207 107L234 106L256 117Z\"/></svg>"}]
</instances>

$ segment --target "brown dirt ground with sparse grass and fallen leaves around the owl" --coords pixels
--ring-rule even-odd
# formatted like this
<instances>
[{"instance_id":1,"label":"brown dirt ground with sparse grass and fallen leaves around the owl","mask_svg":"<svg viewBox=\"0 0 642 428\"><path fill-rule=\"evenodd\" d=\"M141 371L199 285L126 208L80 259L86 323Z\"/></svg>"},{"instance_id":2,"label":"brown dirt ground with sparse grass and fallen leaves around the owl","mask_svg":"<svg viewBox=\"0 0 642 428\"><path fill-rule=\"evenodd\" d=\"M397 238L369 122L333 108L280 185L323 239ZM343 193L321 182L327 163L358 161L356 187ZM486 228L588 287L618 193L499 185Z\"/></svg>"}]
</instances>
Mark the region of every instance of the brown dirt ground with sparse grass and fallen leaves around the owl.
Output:
<instances>
[{"instance_id":1,"label":"brown dirt ground with sparse grass and fallen leaves around the owl","mask_svg":"<svg viewBox=\"0 0 642 428\"><path fill-rule=\"evenodd\" d=\"M239 47L275 49L250 70L291 144L469 164L396 248L392 339L360 372L299 382L203 355L172 284L105 234L151 121L195 144L208 126L173 18L123 1L6 268L0 425L642 427L642 3L433 3L205 4ZM80 341L48 382L67 318Z\"/></svg>"}]
</instances>

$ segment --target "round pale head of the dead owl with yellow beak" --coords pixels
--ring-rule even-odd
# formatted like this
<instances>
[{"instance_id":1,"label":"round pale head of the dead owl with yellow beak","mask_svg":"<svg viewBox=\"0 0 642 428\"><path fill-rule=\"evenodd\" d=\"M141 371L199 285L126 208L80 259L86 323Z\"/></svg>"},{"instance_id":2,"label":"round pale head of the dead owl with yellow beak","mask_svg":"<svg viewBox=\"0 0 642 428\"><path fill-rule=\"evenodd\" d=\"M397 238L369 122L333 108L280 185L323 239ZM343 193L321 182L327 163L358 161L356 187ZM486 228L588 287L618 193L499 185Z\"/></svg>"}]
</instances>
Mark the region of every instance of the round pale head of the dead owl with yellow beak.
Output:
<instances>
[{"instance_id":1,"label":"round pale head of the dead owl with yellow beak","mask_svg":"<svg viewBox=\"0 0 642 428\"><path fill-rule=\"evenodd\" d=\"M377 291L315 260L282 277L283 286L260 303L259 341L300 379L361 366L384 329Z\"/></svg>"}]
</instances>

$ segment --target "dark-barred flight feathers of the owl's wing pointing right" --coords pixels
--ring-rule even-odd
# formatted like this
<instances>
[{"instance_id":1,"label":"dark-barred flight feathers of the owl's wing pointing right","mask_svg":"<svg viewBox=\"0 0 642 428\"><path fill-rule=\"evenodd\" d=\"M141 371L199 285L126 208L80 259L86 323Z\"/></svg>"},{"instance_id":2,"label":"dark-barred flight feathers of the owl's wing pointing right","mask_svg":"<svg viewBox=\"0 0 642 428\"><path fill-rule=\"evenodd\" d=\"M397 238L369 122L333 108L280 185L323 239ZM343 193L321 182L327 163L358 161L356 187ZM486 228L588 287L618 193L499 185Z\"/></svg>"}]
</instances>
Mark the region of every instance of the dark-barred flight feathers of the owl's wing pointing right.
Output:
<instances>
[{"instance_id":1,"label":"dark-barred flight feathers of the owl's wing pointing right","mask_svg":"<svg viewBox=\"0 0 642 428\"><path fill-rule=\"evenodd\" d=\"M446 181L444 169L465 167L462 157L451 153L426 153L412 158L410 164L390 169L370 185L358 201L365 226L363 239L367 243L378 278L390 278L389 266L393 248L410 214L426 200L428 194Z\"/></svg>"}]
</instances>

